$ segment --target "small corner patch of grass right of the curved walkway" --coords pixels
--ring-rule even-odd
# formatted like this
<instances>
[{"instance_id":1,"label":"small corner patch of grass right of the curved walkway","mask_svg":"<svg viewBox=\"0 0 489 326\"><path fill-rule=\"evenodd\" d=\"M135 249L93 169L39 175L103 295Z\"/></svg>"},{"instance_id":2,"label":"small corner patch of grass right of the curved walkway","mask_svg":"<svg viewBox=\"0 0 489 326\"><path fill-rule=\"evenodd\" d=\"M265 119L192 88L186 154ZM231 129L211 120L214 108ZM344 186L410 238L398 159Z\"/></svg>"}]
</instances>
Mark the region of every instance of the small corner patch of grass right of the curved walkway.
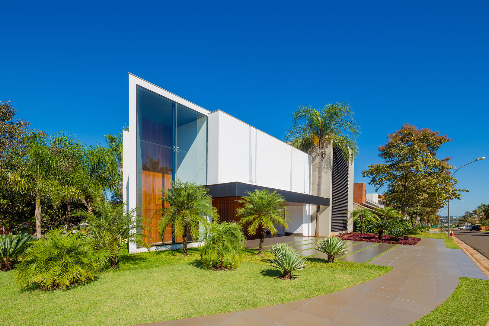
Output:
<instances>
[{"instance_id":1,"label":"small corner patch of grass right of the curved walkway","mask_svg":"<svg viewBox=\"0 0 489 326\"><path fill-rule=\"evenodd\" d=\"M485 326L489 320L489 281L460 278L453 294L411 326Z\"/></svg>"}]
</instances>

